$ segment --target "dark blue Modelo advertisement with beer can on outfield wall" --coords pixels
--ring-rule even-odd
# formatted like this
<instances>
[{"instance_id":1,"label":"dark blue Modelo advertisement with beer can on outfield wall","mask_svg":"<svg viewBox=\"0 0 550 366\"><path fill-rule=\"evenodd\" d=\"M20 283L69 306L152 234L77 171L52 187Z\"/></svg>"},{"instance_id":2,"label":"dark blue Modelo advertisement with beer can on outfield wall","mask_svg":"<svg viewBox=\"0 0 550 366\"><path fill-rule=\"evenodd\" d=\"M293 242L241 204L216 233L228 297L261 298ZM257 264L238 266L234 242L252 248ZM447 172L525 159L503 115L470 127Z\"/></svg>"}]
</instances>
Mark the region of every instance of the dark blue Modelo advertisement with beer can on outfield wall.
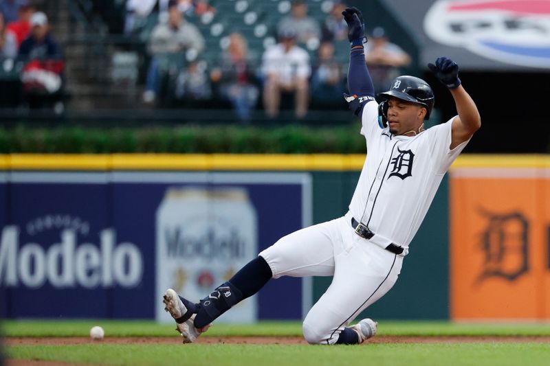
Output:
<instances>
[{"instance_id":1,"label":"dark blue Modelo advertisement with beer can on outfield wall","mask_svg":"<svg viewBox=\"0 0 550 366\"><path fill-rule=\"evenodd\" d=\"M199 301L311 222L302 173L12 172L0 176L1 316L155 318L171 287ZM298 319L300 279L222 321ZM285 301L296 299L296 301Z\"/></svg>"}]
</instances>

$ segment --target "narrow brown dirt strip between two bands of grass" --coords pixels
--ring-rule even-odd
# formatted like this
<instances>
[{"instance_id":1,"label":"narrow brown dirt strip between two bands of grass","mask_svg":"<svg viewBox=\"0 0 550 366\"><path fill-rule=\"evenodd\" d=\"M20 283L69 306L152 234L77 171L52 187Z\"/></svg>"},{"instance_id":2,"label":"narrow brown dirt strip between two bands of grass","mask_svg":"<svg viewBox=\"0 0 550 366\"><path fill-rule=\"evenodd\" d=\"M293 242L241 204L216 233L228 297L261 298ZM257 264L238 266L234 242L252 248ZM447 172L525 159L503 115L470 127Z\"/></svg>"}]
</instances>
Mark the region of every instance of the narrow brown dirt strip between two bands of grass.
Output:
<instances>
[{"instance_id":1,"label":"narrow brown dirt strip between two bands of grass","mask_svg":"<svg viewBox=\"0 0 550 366\"><path fill-rule=\"evenodd\" d=\"M364 345L377 343L550 343L550 336L375 336ZM177 344L178 336L170 337L106 337L102 341L91 341L88 337L45 337L19 338L8 337L5 343L10 345L78 345L83 343L107 344ZM202 336L197 344L280 344L305 345L302 337L285 336Z\"/></svg>"}]
</instances>

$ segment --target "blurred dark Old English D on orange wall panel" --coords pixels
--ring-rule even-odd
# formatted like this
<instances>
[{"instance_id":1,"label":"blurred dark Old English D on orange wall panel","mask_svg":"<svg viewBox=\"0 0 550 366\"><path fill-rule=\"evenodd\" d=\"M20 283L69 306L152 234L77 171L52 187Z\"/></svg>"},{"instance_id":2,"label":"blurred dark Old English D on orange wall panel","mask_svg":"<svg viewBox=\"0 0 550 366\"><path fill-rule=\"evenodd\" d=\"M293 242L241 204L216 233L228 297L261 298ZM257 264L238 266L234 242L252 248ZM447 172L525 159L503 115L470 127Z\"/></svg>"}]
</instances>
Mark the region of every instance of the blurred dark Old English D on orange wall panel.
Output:
<instances>
[{"instance_id":1,"label":"blurred dark Old English D on orange wall panel","mask_svg":"<svg viewBox=\"0 0 550 366\"><path fill-rule=\"evenodd\" d=\"M489 277L514 281L529 270L529 222L519 212L482 214L489 222L481 234L483 271L478 282Z\"/></svg>"}]
</instances>

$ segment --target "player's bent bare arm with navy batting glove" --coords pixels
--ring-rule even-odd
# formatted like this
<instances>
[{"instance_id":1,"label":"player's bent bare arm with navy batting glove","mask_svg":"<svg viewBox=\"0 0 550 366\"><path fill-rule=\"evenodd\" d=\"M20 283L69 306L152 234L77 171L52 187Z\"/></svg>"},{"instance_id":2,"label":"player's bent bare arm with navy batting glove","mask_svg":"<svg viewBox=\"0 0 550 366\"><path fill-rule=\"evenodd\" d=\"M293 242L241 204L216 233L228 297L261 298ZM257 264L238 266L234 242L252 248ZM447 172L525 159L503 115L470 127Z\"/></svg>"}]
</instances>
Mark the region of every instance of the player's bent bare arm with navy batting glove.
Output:
<instances>
[{"instance_id":1,"label":"player's bent bare arm with navy batting glove","mask_svg":"<svg viewBox=\"0 0 550 366\"><path fill-rule=\"evenodd\" d=\"M449 88L454 98L456 111L459 116L452 121L450 149L456 148L481 127L481 117L474 100L466 93L459 79L459 65L450 58L439 57L434 64L428 64L430 70L437 76L439 81Z\"/></svg>"}]
</instances>

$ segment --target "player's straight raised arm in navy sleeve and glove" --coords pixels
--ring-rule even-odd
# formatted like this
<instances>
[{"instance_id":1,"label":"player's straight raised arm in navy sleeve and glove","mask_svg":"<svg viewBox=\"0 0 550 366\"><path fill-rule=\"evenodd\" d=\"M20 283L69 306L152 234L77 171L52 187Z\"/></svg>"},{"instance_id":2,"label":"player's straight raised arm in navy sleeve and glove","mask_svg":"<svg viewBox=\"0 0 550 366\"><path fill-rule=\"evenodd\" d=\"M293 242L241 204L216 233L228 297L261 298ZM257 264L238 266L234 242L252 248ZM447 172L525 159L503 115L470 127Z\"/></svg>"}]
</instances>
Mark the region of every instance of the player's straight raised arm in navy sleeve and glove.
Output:
<instances>
[{"instance_id":1,"label":"player's straight raised arm in navy sleeve and glove","mask_svg":"<svg viewBox=\"0 0 550 366\"><path fill-rule=\"evenodd\" d=\"M348 39L351 43L348 69L348 89L351 95L345 95L345 98L351 111L355 115L360 115L365 103L374 100L373 80L369 69L366 68L363 48L365 25L363 16L357 8L346 8L342 15L348 24Z\"/></svg>"}]
</instances>

